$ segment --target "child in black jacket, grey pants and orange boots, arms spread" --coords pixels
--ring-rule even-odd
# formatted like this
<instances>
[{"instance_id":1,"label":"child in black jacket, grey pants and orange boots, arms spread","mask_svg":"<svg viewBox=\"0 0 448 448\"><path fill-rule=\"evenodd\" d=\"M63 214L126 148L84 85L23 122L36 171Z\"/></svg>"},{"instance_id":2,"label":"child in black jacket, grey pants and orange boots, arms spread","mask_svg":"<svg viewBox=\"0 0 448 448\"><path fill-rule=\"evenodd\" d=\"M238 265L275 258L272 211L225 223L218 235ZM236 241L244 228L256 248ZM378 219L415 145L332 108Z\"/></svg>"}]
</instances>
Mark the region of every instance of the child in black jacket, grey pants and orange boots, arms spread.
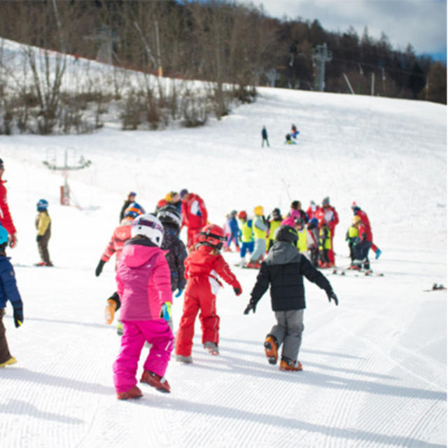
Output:
<instances>
[{"instance_id":1,"label":"child in black jacket, grey pants and orange boots, arms spread","mask_svg":"<svg viewBox=\"0 0 448 448\"><path fill-rule=\"evenodd\" d=\"M330 282L297 251L297 239L297 231L290 225L281 225L276 230L276 242L261 263L251 300L244 310L244 314L248 314L251 309L255 313L256 304L270 284L272 310L277 323L267 335L264 345L269 364L276 364L278 350L283 344L280 370L302 370L297 356L302 342L303 311L306 307L303 276L325 290L329 302L333 300L338 304Z\"/></svg>"}]
</instances>

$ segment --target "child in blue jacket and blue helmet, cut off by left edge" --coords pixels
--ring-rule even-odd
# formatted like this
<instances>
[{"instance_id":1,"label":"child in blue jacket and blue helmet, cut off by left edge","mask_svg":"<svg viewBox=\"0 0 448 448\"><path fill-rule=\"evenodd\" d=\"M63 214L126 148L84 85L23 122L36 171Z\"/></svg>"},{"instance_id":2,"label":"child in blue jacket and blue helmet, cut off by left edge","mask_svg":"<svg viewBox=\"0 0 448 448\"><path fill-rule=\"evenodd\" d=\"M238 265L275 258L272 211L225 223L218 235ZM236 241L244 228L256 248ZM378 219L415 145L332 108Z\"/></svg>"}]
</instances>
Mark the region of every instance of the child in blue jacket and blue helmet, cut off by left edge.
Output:
<instances>
[{"instance_id":1,"label":"child in blue jacket and blue helmet, cut off by left edge","mask_svg":"<svg viewBox=\"0 0 448 448\"><path fill-rule=\"evenodd\" d=\"M13 316L15 328L20 327L23 322L23 304L20 297L15 272L10 258L6 256L6 245L8 244L8 232L0 226L0 367L15 364L17 360L11 356L6 341L6 328L3 325L6 302L9 300L13 305Z\"/></svg>"}]
</instances>

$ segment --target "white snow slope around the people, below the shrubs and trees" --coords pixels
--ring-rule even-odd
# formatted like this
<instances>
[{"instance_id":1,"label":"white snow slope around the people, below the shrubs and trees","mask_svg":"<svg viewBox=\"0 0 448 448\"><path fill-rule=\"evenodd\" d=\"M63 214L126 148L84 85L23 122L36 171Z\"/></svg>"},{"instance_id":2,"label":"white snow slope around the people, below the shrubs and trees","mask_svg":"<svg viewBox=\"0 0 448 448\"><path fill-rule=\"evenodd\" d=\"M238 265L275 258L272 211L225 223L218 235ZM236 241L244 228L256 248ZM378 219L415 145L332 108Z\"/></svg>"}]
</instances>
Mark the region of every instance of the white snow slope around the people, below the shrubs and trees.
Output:
<instances>
[{"instance_id":1,"label":"white snow slope around the people, below the shrubs and trees","mask_svg":"<svg viewBox=\"0 0 448 448\"><path fill-rule=\"evenodd\" d=\"M255 104L194 130L85 136L0 137L8 200L18 227L16 264L25 323L4 323L18 364L0 370L1 447L442 447L446 445L446 107L374 97L260 89ZM283 145L291 123L295 146ZM261 148L266 125L270 148ZM59 205L63 179L43 165L65 148L92 160L69 174L80 208ZM71 154L71 152L69 152ZM337 265L353 200L370 216L384 277L333 276L340 299L306 284L303 372L268 365L262 342L274 316L269 297L242 311L256 272L233 267L244 293L218 295L221 356L200 344L193 365L169 365L170 395L144 387L116 400L112 363L119 338L104 324L115 289L113 262L94 267L129 190L147 210L189 188L211 222L261 204L329 195L339 212ZM50 202L54 268L38 260L35 203ZM183 235L184 237L184 235ZM179 323L182 297L174 303ZM139 372L140 373L140 372Z\"/></svg>"}]
</instances>

